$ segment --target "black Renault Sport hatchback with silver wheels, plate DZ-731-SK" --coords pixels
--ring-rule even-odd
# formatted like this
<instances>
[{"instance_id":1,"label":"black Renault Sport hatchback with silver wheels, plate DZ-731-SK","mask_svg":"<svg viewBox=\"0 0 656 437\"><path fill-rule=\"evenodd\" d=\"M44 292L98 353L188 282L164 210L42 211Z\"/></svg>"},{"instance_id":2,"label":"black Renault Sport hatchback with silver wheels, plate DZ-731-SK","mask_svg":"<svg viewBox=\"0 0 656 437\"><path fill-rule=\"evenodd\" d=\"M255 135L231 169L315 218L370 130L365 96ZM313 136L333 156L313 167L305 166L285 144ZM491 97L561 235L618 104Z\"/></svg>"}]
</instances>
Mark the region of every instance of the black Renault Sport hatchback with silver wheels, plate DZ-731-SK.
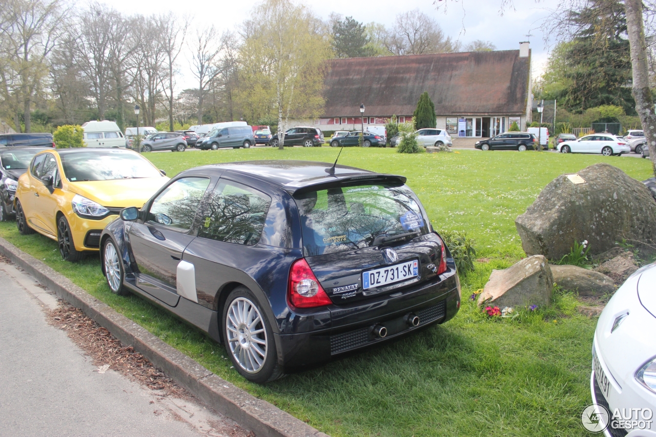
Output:
<instances>
[{"instance_id":1,"label":"black Renault Sport hatchback with silver wheels, plate DZ-731-SK","mask_svg":"<svg viewBox=\"0 0 656 437\"><path fill-rule=\"evenodd\" d=\"M314 161L205 165L121 218L101 236L110 289L209 333L256 383L460 307L455 262L402 176Z\"/></svg>"}]
</instances>

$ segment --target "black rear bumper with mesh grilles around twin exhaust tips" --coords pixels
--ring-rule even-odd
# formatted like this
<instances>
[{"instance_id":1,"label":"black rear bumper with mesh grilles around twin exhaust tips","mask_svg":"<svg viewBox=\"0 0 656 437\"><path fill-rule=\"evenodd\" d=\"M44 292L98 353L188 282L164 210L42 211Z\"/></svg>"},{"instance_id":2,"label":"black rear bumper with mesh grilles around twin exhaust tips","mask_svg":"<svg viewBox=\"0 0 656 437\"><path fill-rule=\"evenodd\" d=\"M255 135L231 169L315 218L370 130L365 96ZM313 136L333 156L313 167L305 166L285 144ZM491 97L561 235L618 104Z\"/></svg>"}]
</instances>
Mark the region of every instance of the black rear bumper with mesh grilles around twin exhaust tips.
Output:
<instances>
[{"instance_id":1,"label":"black rear bumper with mesh grilles around twin exhaust tips","mask_svg":"<svg viewBox=\"0 0 656 437\"><path fill-rule=\"evenodd\" d=\"M460 284L454 270L438 283L428 283L401 296L363 301L350 308L331 307L331 327L320 331L274 334L278 362L291 369L324 363L335 356L398 338L431 323L444 323L460 308ZM419 316L412 326L405 316ZM375 325L384 326L387 335L377 337Z\"/></svg>"}]
</instances>

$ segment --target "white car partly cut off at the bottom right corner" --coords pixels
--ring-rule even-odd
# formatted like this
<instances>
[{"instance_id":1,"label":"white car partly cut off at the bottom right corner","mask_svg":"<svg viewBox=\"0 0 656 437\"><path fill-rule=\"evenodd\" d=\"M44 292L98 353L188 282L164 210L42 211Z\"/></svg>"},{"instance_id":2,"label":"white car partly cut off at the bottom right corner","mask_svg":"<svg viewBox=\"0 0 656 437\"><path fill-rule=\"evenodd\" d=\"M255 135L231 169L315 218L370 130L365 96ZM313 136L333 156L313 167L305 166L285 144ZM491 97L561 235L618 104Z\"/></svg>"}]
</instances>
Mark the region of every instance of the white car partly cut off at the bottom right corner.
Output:
<instances>
[{"instance_id":1,"label":"white car partly cut off at the bottom right corner","mask_svg":"<svg viewBox=\"0 0 656 437\"><path fill-rule=\"evenodd\" d=\"M605 306L594 331L590 391L607 437L656 437L654 333L656 263L640 268L625 281Z\"/></svg>"}]
</instances>

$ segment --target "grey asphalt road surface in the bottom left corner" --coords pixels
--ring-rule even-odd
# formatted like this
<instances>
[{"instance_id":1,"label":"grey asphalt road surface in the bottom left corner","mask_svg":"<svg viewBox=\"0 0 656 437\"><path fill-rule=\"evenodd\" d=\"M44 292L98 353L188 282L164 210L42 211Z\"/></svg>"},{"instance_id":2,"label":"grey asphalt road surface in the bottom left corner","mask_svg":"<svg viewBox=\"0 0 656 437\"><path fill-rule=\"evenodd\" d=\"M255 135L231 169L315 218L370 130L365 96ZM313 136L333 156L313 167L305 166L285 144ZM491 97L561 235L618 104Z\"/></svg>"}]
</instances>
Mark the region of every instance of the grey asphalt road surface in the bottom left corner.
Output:
<instances>
[{"instance_id":1,"label":"grey asphalt road surface in the bottom left corner","mask_svg":"<svg viewBox=\"0 0 656 437\"><path fill-rule=\"evenodd\" d=\"M200 404L100 373L46 322L44 310L56 305L30 276L0 261L0 436L234 435L234 422Z\"/></svg>"}]
</instances>

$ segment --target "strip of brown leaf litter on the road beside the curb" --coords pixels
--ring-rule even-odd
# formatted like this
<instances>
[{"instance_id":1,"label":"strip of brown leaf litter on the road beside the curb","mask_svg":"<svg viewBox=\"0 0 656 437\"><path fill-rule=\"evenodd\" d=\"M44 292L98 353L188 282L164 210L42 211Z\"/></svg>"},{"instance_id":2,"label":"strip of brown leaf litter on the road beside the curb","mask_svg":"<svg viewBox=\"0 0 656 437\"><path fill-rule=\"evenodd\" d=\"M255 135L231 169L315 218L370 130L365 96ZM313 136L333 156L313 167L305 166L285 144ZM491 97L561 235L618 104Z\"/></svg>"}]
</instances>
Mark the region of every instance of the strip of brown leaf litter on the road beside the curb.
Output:
<instances>
[{"instance_id":1,"label":"strip of brown leaf litter on the road beside the curb","mask_svg":"<svg viewBox=\"0 0 656 437\"><path fill-rule=\"evenodd\" d=\"M190 394L173 379L157 369L142 354L135 352L133 346L124 346L110 332L85 316L82 310L64 304L47 314L51 325L63 329L98 367L108 364L115 370L147 386L151 390L161 390L161 396L173 395L178 398L190 398Z\"/></svg>"}]
</instances>

